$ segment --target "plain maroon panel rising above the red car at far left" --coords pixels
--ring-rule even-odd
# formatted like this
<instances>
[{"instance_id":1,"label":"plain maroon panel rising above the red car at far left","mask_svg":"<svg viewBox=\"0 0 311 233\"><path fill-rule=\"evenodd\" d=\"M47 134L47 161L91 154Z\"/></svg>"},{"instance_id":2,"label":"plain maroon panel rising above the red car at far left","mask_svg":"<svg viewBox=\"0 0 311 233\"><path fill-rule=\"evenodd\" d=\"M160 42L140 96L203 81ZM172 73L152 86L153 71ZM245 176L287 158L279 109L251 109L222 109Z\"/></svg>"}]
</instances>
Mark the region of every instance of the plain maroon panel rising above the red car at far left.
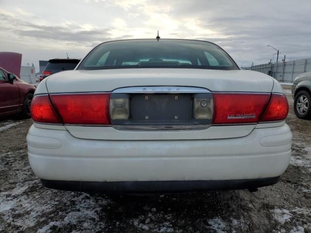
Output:
<instances>
[{"instance_id":1,"label":"plain maroon panel rising above the red car at far left","mask_svg":"<svg viewBox=\"0 0 311 233\"><path fill-rule=\"evenodd\" d=\"M20 77L21 53L0 52L0 67Z\"/></svg>"}]
</instances>

